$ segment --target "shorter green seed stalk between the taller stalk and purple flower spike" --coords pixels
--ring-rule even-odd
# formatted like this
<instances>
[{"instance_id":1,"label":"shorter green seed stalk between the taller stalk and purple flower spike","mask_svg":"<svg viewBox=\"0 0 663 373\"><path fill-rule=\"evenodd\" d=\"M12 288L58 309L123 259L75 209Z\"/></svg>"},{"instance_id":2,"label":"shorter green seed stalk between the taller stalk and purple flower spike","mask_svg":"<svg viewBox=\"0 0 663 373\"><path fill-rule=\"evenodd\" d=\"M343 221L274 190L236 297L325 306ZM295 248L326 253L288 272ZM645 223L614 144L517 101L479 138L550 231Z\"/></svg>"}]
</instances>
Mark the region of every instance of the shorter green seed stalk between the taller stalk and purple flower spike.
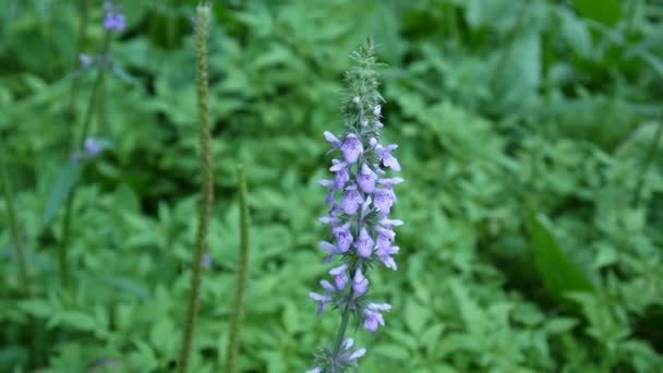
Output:
<instances>
[{"instance_id":1,"label":"shorter green seed stalk between the taller stalk and purple flower spike","mask_svg":"<svg viewBox=\"0 0 663 373\"><path fill-rule=\"evenodd\" d=\"M230 315L230 336L228 340L228 358L226 360L226 372L236 373L239 356L239 337L242 325L242 316L244 309L244 289L246 287L246 277L249 274L249 226L251 218L249 216L249 203L246 202L246 178L244 176L244 167L238 166L237 172L239 176L240 189L240 258L237 272L237 288L234 292L234 302L232 304L232 314Z\"/></svg>"}]
</instances>

